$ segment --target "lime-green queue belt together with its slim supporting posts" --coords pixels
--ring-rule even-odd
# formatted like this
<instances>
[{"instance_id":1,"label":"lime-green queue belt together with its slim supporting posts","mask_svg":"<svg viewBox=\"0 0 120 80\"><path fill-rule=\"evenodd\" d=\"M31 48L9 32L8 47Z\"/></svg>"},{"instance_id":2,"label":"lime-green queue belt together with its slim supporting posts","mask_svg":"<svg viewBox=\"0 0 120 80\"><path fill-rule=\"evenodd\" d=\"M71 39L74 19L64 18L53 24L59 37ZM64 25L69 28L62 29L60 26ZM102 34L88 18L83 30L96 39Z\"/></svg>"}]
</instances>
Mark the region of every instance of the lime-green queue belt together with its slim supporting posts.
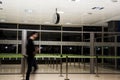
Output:
<instances>
[{"instance_id":1,"label":"lime-green queue belt together with its slim supporting posts","mask_svg":"<svg viewBox=\"0 0 120 80\"><path fill-rule=\"evenodd\" d=\"M67 57L66 57L67 56ZM95 55L95 56L88 56L88 55L73 55L73 54L37 54L36 56L36 59L44 59L45 60L45 64L52 64L53 68L54 68L54 64L56 64L56 69L58 69L58 61L59 60L59 64L60 64L60 77L63 77L63 67L62 67L62 59L66 59L66 79L68 79L68 62L69 62L69 59L80 59L80 58L83 58L83 59L95 59L95 64L96 64L96 77L99 77L98 75L98 62L97 60L98 59L120 59L120 56L98 56L98 55ZM2 53L0 54L0 65L1 64L1 61L4 60L4 59L23 59L24 56L22 54L8 54L8 53ZM55 61L55 62L54 62ZM80 66L80 65L79 65ZM23 66L25 67L25 66ZM25 69L25 68L24 68ZM25 71L25 70L22 70L22 72ZM24 72L25 73L25 72ZM23 75L24 76L24 75Z\"/></svg>"}]
</instances>

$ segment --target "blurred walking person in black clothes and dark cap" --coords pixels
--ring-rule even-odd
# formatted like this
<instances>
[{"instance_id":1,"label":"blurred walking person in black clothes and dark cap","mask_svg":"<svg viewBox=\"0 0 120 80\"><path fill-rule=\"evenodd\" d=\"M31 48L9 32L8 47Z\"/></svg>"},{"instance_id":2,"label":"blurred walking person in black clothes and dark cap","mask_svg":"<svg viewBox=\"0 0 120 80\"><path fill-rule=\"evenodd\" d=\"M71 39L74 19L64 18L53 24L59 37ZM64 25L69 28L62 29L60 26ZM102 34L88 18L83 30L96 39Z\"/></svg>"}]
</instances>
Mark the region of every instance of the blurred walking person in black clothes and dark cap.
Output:
<instances>
[{"instance_id":1,"label":"blurred walking person in black clothes and dark cap","mask_svg":"<svg viewBox=\"0 0 120 80\"><path fill-rule=\"evenodd\" d=\"M26 72L26 80L30 80L30 73L32 71L32 67L34 67L34 72L38 69L35 54L38 52L39 48L35 47L34 40L38 37L37 32L33 32L27 39L26 44L26 54L27 54L27 72Z\"/></svg>"}]
</instances>

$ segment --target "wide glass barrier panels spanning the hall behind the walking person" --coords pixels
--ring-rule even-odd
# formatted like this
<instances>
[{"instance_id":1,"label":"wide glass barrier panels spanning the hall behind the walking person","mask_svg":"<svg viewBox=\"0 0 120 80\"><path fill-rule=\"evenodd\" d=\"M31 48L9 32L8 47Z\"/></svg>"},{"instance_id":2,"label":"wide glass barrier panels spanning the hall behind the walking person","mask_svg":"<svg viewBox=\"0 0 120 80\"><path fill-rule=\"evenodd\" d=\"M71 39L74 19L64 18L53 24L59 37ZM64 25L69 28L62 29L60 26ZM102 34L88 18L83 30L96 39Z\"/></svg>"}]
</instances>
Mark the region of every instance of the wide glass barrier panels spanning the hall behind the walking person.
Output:
<instances>
[{"instance_id":1,"label":"wide glass barrier panels spanning the hall behind the walking person","mask_svg":"<svg viewBox=\"0 0 120 80\"><path fill-rule=\"evenodd\" d=\"M37 73L120 73L119 33L26 30L39 33ZM0 73L21 73L23 29L0 30ZM96 57L98 56L98 58ZM97 58L97 59L96 59ZM97 63L96 63L97 61Z\"/></svg>"}]
</instances>

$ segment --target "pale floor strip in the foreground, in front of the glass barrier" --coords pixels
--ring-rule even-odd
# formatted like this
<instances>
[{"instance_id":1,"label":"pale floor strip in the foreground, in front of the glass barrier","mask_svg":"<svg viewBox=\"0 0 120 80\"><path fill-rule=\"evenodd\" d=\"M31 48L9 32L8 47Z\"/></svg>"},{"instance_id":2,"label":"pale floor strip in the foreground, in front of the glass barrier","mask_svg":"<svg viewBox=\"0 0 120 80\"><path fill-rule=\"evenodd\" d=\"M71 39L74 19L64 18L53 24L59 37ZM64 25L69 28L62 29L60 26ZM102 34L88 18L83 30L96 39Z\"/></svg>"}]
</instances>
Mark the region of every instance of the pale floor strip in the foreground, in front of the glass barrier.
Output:
<instances>
[{"instance_id":1,"label":"pale floor strip in the foreground, in front of the glass barrier","mask_svg":"<svg viewBox=\"0 0 120 80\"><path fill-rule=\"evenodd\" d=\"M69 80L120 80L119 74L69 74ZM20 74L0 75L0 80L23 80ZM31 74L30 80L66 80L65 74L60 77L59 74Z\"/></svg>"}]
</instances>

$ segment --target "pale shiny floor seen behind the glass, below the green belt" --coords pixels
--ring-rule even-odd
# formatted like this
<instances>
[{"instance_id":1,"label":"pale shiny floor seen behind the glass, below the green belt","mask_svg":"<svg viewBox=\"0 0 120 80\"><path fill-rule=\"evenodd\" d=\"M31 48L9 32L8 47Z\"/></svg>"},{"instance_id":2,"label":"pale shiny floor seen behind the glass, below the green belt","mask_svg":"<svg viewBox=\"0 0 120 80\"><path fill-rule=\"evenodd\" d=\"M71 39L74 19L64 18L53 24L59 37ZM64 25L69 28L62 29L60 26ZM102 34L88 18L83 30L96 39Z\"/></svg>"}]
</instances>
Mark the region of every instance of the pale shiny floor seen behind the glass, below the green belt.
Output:
<instances>
[{"instance_id":1,"label":"pale shiny floor seen behind the glass, below the green belt","mask_svg":"<svg viewBox=\"0 0 120 80\"><path fill-rule=\"evenodd\" d=\"M0 65L0 74L4 73L21 73L21 64L2 64ZM36 73L45 74L45 73L56 73L59 74L61 71L60 64L39 64L39 69ZM95 67L96 72L96 67ZM62 64L62 73L66 73L66 64ZM68 73L90 73L90 64L89 63L69 63L68 64ZM119 73L120 70L115 69L113 66L101 66L98 65L98 73Z\"/></svg>"}]
</instances>

